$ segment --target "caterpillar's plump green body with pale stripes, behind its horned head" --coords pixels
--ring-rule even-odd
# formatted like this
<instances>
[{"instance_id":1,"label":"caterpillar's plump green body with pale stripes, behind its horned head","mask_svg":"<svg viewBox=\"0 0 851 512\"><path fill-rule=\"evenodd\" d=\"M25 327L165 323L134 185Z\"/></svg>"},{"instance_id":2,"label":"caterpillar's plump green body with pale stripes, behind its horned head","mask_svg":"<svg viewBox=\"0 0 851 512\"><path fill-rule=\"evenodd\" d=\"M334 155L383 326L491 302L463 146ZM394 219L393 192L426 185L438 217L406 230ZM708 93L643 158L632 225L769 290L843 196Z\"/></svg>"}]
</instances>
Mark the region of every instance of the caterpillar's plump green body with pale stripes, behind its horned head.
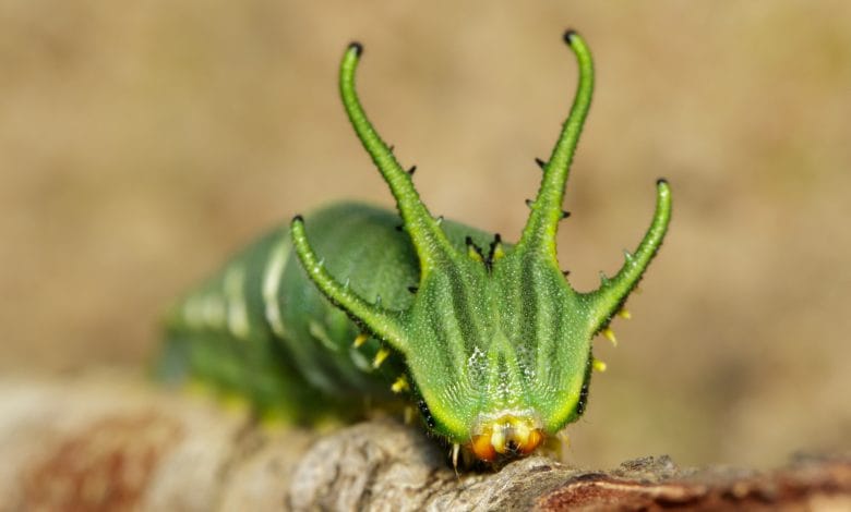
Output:
<instances>
[{"instance_id":1,"label":"caterpillar's plump green body with pale stripes, behind its horned head","mask_svg":"<svg viewBox=\"0 0 851 512\"><path fill-rule=\"evenodd\" d=\"M399 309L411 304L408 287L417 283L419 270L410 239L397 229L398 214L346 203L308 221L308 233L335 278ZM468 235L481 244L493 239L452 221L443 225L458 248ZM239 319L242 310L248 329ZM175 305L156 371L166 381L197 380L247 397L264 416L357 415L361 401L352 398L394 400L389 382L404 371L398 354L373 368L380 343L371 339L355 349L359 332L310 282L293 254L289 228L280 227Z\"/></svg>"}]
</instances>

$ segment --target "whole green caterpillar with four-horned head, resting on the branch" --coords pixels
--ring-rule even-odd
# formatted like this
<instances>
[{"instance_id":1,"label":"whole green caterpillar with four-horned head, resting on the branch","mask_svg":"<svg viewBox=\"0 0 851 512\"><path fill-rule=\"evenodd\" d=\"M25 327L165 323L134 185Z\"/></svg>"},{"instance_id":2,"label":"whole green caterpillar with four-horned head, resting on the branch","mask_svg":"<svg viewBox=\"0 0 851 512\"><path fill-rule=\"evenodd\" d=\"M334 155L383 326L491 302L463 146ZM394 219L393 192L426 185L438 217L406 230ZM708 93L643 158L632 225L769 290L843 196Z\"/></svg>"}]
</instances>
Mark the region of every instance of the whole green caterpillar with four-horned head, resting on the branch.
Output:
<instances>
[{"instance_id":1,"label":"whole green caterpillar with four-horned head, resting on the branch","mask_svg":"<svg viewBox=\"0 0 851 512\"><path fill-rule=\"evenodd\" d=\"M248 397L266 415L310 422L357 411L355 395L403 395L428 429L482 461L534 451L585 411L591 339L608 326L661 245L671 194L598 290L574 291L555 255L568 168L594 88L582 37L564 40L579 80L519 241L434 218L355 90L362 53L343 57L339 89L398 214L332 206L274 230L190 293L167 319L160 376ZM392 382L392 385L391 385ZM398 400L397 400L398 401ZM353 405L355 404L355 405Z\"/></svg>"}]
</instances>

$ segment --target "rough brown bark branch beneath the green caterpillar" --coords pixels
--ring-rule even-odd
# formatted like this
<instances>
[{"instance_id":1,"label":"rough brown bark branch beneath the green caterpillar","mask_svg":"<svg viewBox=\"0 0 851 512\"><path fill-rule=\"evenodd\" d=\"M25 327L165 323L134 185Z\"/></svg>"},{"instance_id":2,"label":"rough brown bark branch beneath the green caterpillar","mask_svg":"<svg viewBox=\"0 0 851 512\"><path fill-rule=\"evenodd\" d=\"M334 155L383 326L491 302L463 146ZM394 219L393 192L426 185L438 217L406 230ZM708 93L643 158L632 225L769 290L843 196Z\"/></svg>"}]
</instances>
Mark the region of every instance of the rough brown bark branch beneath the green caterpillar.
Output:
<instances>
[{"instance_id":1,"label":"rough brown bark branch beneath the green caterpillar","mask_svg":"<svg viewBox=\"0 0 851 512\"><path fill-rule=\"evenodd\" d=\"M770 473L612 471L529 458L456 475L443 450L389 419L317 435L264 428L125 378L0 380L0 511L851 510L851 456Z\"/></svg>"}]
</instances>

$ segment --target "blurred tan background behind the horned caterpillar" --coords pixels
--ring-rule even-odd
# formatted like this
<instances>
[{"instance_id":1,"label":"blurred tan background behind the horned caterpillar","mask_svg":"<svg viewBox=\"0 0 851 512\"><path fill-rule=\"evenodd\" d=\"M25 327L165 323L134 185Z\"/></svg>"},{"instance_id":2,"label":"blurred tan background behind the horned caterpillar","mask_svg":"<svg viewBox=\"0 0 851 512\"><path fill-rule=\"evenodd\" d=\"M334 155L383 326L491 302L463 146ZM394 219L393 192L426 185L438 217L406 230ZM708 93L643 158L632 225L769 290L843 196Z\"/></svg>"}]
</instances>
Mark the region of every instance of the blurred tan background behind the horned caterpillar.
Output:
<instances>
[{"instance_id":1,"label":"blurred tan background behind the horned caterpillar","mask_svg":"<svg viewBox=\"0 0 851 512\"><path fill-rule=\"evenodd\" d=\"M597 62L560 259L615 271L673 187L572 462L851 448L851 3L0 1L0 371L143 375L157 319L272 225L392 205L338 59L432 211L514 240Z\"/></svg>"}]
</instances>

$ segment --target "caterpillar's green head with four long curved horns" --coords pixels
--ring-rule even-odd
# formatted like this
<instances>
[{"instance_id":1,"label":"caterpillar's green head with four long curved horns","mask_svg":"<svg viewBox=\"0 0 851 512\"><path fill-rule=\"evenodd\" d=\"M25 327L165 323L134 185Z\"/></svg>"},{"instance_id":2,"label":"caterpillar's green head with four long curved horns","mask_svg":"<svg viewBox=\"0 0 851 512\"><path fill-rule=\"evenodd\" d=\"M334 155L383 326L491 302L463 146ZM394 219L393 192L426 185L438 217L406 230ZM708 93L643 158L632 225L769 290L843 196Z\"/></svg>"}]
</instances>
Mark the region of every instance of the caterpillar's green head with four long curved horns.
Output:
<instances>
[{"instance_id":1,"label":"caterpillar's green head with four long curved horns","mask_svg":"<svg viewBox=\"0 0 851 512\"><path fill-rule=\"evenodd\" d=\"M657 182L656 214L622 268L603 276L599 289L573 290L555 254L564 187L591 101L594 68L585 41L568 31L579 80L561 135L519 241L499 235L458 244L431 216L391 148L367 119L355 90L362 47L352 44L340 65L340 94L363 147L396 199L404 229L420 264L411 306L395 310L371 304L338 282L311 248L300 217L292 221L296 252L316 287L356 321L399 352L423 414L436 434L493 461L525 455L585 410L591 339L608 332L612 316L656 255L671 214L664 180Z\"/></svg>"}]
</instances>

